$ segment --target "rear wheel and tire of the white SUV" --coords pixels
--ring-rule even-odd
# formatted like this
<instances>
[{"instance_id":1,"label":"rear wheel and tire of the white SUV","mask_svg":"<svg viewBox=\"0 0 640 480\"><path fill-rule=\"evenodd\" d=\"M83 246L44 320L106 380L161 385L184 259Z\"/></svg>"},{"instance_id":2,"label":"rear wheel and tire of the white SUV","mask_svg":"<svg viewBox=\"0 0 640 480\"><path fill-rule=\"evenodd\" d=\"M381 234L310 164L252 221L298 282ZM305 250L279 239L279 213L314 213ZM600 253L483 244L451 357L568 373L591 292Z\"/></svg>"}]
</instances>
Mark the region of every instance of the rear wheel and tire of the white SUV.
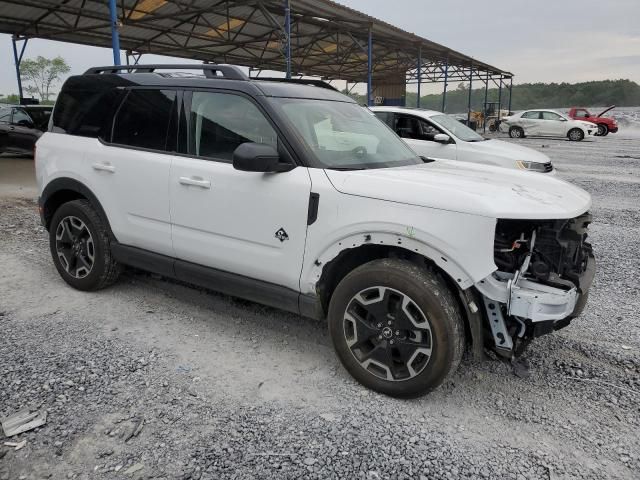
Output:
<instances>
[{"instance_id":1,"label":"rear wheel and tire of the white SUV","mask_svg":"<svg viewBox=\"0 0 640 480\"><path fill-rule=\"evenodd\" d=\"M55 211L49 248L62 279L78 290L105 288L122 270L111 254L108 229L87 200L64 203Z\"/></svg>"}]
</instances>

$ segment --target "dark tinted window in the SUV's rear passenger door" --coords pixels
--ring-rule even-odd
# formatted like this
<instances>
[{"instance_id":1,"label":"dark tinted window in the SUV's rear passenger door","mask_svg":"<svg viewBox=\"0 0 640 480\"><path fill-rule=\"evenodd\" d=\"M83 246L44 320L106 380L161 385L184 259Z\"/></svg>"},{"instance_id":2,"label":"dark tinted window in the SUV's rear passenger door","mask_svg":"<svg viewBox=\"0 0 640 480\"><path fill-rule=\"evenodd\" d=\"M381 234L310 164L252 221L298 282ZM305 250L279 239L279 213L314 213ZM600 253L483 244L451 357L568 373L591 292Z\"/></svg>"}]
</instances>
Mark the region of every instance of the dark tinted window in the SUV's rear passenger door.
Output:
<instances>
[{"instance_id":1,"label":"dark tinted window in the SUV's rear passenger door","mask_svg":"<svg viewBox=\"0 0 640 480\"><path fill-rule=\"evenodd\" d=\"M131 90L116 114L112 142L165 150L175 98L172 90Z\"/></svg>"}]
</instances>

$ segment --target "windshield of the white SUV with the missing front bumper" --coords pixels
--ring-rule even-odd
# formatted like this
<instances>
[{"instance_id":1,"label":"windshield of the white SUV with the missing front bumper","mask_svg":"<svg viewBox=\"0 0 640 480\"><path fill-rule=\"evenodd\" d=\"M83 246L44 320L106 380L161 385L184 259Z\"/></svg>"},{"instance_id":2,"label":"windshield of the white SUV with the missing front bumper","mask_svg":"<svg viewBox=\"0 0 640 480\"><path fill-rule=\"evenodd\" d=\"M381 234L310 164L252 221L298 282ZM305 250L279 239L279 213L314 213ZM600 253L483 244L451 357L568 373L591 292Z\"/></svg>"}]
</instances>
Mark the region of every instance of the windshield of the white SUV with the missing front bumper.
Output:
<instances>
[{"instance_id":1,"label":"windshield of the white SUV with the missing front bumper","mask_svg":"<svg viewBox=\"0 0 640 480\"><path fill-rule=\"evenodd\" d=\"M355 103L299 98L272 102L323 168L361 170L423 163L389 127Z\"/></svg>"}]
</instances>

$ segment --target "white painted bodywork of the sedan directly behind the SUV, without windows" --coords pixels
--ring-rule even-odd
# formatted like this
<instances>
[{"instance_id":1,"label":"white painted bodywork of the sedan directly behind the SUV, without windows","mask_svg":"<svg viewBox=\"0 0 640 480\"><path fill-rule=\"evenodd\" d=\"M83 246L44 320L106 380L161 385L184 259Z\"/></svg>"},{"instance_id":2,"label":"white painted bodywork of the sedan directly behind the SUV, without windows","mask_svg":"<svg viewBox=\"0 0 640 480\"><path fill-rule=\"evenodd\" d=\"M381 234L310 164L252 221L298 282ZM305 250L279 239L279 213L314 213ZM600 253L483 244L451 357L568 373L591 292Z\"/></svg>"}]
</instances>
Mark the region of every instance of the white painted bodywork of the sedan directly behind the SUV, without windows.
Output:
<instances>
[{"instance_id":1,"label":"white painted bodywork of the sedan directly behind the SUV, without windows","mask_svg":"<svg viewBox=\"0 0 640 480\"><path fill-rule=\"evenodd\" d=\"M467 142L458 138L447 128L436 124L431 117L442 115L441 112L431 110L415 110L401 107L372 107L373 112L393 112L412 115L421 118L430 125L436 126L449 135L455 143L442 144L430 140L404 138L403 140L418 154L429 158L443 158L462 162L480 163L517 169L516 162L549 163L548 156L532 148L514 145L500 140L486 140L484 142ZM555 171L553 172L555 173Z\"/></svg>"}]
</instances>

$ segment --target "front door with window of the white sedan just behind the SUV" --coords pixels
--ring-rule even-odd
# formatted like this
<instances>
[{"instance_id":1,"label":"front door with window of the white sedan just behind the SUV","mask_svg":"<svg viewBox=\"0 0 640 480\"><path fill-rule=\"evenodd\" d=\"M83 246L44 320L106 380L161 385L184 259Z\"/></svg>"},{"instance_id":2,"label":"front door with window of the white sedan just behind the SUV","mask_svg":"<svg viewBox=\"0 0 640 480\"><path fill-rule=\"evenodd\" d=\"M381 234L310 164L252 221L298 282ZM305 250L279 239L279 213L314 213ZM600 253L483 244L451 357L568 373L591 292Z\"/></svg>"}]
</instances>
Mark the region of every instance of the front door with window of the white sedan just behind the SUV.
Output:
<instances>
[{"instance_id":1,"label":"front door with window of the white sedan just behind the SUV","mask_svg":"<svg viewBox=\"0 0 640 480\"><path fill-rule=\"evenodd\" d=\"M456 144L436 142L433 139L434 136L442 132L422 118L396 113L392 128L414 152L422 157L457 159Z\"/></svg>"}]
</instances>

